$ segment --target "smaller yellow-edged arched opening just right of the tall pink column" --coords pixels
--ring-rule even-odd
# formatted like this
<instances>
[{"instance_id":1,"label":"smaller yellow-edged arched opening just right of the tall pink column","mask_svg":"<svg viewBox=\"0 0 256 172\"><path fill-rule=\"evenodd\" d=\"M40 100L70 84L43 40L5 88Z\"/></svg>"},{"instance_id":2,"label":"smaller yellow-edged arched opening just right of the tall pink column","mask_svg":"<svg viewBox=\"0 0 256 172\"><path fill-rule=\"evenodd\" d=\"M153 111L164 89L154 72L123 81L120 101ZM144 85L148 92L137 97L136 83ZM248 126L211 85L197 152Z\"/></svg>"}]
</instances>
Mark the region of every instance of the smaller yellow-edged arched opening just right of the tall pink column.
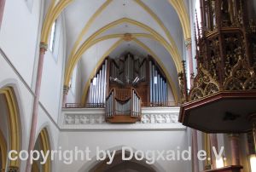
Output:
<instances>
[{"instance_id":1,"label":"smaller yellow-edged arched opening just right of the tall pink column","mask_svg":"<svg viewBox=\"0 0 256 172\"><path fill-rule=\"evenodd\" d=\"M46 154L46 152L50 150L49 135L48 135L47 129L44 128L41 130L40 134L38 135L38 139L36 140L34 150L37 150L38 152L43 151L44 155ZM51 171L50 158L48 158L44 164L41 164L43 160L44 159L40 157L37 161L33 161L32 172L39 172L39 171L50 172Z\"/></svg>"}]
</instances>

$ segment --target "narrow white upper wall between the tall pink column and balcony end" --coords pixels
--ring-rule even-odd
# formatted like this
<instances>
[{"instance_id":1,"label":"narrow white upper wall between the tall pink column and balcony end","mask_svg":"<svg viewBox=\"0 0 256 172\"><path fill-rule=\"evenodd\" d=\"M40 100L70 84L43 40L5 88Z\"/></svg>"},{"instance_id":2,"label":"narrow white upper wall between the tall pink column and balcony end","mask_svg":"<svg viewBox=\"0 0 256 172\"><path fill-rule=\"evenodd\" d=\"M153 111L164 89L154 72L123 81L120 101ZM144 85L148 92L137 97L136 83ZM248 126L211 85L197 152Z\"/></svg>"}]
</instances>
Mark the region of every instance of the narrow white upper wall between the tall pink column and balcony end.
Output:
<instances>
[{"instance_id":1,"label":"narrow white upper wall between the tall pink column and balcony end","mask_svg":"<svg viewBox=\"0 0 256 172\"><path fill-rule=\"evenodd\" d=\"M49 111L55 123L59 116L59 109L62 105L62 80L66 57L65 27L62 15L56 23L56 37L54 52L49 50L44 55L44 69L41 85L40 101Z\"/></svg>"}]
</instances>

